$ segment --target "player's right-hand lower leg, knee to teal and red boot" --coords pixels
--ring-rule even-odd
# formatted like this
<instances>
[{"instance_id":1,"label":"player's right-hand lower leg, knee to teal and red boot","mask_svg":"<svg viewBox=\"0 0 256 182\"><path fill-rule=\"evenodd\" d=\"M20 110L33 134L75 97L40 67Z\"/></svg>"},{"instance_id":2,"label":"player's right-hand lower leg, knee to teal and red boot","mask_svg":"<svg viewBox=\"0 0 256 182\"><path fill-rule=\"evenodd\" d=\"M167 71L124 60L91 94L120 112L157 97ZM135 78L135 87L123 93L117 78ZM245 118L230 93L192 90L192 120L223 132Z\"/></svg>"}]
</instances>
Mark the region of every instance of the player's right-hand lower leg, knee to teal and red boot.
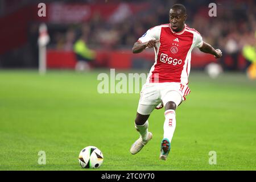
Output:
<instances>
[{"instance_id":1,"label":"player's right-hand lower leg, knee to teal and red boot","mask_svg":"<svg viewBox=\"0 0 256 182\"><path fill-rule=\"evenodd\" d=\"M171 139L174 135L174 130L176 127L176 118L175 118L175 110L176 104L175 102L167 102L166 111L164 112L164 117L166 117L164 121L164 137L161 142L160 148L160 159L166 160L167 156L171 150Z\"/></svg>"}]
</instances>

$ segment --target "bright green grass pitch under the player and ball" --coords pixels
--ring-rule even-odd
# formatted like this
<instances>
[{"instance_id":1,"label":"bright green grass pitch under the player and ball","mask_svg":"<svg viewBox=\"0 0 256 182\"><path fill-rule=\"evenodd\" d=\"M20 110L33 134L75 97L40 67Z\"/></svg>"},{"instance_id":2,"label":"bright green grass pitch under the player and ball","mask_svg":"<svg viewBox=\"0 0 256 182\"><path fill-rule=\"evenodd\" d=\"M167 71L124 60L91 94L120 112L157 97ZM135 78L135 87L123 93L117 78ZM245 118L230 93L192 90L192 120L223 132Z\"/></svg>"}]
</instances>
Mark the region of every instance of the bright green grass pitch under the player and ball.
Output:
<instances>
[{"instance_id":1,"label":"bright green grass pitch under the player and ball","mask_svg":"<svg viewBox=\"0 0 256 182\"><path fill-rule=\"evenodd\" d=\"M139 94L99 94L98 73L0 71L0 170L92 170L85 146L104 154L96 170L256 170L256 82L242 73L210 79L191 72L191 94L176 110L166 162L159 160L164 110L149 119L153 138L131 155ZM46 165L39 165L39 151ZM209 164L216 151L217 164Z\"/></svg>"}]
</instances>

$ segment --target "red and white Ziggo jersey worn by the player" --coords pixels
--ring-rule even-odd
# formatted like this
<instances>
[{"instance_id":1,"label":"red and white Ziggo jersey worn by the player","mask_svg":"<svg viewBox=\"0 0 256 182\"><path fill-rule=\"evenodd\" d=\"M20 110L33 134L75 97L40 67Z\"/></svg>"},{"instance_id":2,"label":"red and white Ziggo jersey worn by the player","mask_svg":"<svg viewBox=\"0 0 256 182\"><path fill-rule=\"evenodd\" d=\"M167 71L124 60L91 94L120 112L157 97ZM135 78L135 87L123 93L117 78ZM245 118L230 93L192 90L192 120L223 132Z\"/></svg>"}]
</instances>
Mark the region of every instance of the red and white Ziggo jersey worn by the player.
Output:
<instances>
[{"instance_id":1,"label":"red and white Ziggo jersey worn by the player","mask_svg":"<svg viewBox=\"0 0 256 182\"><path fill-rule=\"evenodd\" d=\"M170 24L150 28L138 42L159 40L156 43L155 63L150 69L147 82L180 82L188 85L191 68L191 51L203 46L199 32L185 25L180 32L172 31Z\"/></svg>"}]
</instances>

